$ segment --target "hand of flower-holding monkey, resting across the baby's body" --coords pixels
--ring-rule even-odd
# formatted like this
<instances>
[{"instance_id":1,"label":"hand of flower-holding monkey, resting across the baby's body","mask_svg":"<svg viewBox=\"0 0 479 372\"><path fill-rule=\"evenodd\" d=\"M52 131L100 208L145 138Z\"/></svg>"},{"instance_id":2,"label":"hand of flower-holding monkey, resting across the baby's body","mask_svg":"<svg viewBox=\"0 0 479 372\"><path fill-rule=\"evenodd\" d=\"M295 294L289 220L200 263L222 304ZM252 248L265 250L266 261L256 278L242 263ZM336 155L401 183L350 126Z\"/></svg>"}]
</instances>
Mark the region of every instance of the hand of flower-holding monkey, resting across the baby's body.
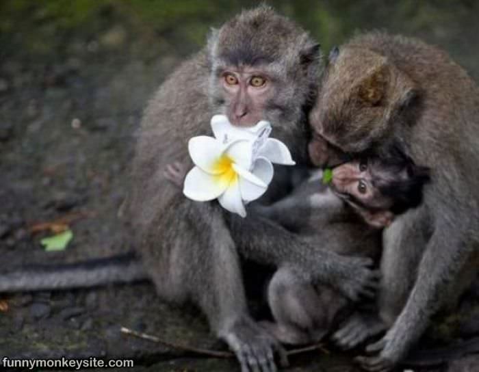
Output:
<instances>
[{"instance_id":1,"label":"hand of flower-holding monkey, resting across the baby's body","mask_svg":"<svg viewBox=\"0 0 479 372\"><path fill-rule=\"evenodd\" d=\"M380 272L371 268L373 261L363 257L341 258L344 266L333 273L331 286L354 302L363 297L374 297Z\"/></svg>"}]
</instances>

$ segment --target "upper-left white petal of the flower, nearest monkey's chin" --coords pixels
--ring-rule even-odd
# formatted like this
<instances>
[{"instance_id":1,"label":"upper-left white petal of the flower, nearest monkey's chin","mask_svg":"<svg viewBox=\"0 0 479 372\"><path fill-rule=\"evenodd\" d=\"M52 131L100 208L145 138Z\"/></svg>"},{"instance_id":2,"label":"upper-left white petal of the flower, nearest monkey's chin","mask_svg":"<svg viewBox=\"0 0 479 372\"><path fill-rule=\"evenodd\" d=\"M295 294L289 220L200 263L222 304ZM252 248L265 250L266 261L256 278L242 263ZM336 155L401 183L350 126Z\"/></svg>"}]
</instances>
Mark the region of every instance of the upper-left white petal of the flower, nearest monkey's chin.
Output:
<instances>
[{"instance_id":1,"label":"upper-left white petal of the flower, nearest monkey's chin","mask_svg":"<svg viewBox=\"0 0 479 372\"><path fill-rule=\"evenodd\" d=\"M222 146L213 137L198 135L188 142L188 152L195 165L209 174L218 174L214 165L222 153Z\"/></svg>"}]
</instances>

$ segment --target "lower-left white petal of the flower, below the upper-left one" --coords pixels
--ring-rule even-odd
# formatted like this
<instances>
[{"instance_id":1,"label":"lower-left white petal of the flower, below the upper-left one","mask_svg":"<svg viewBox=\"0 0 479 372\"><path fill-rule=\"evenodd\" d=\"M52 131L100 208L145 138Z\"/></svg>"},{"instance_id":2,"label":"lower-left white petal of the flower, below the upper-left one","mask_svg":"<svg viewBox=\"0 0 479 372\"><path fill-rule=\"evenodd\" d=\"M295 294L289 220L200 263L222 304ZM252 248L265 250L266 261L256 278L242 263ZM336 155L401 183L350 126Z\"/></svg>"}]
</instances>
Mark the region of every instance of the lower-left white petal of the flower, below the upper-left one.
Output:
<instances>
[{"instance_id":1,"label":"lower-left white petal of the flower, below the upper-left one","mask_svg":"<svg viewBox=\"0 0 479 372\"><path fill-rule=\"evenodd\" d=\"M218 176L213 176L198 167L194 167L185 177L183 194L197 202L216 199L228 187L227 183L220 183L217 178Z\"/></svg>"}]
</instances>

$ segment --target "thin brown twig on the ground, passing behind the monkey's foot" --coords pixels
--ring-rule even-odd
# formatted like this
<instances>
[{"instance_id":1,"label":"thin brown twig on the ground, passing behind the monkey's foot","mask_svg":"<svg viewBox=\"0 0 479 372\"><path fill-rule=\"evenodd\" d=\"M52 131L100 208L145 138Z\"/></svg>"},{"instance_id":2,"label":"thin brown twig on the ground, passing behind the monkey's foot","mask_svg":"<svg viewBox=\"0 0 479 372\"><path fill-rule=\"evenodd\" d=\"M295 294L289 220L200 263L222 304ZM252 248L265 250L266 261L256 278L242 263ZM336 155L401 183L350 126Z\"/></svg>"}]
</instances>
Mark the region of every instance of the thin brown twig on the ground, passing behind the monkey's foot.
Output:
<instances>
[{"instance_id":1,"label":"thin brown twig on the ground, passing behind the monkey's foot","mask_svg":"<svg viewBox=\"0 0 479 372\"><path fill-rule=\"evenodd\" d=\"M210 350L210 349L200 349L198 347L192 347L187 345L179 345L177 343L171 343L170 341L162 340L161 338L157 336L152 336L151 334L146 334L143 332L137 332L135 330L131 330L126 327L122 327L120 331L125 334L131 334L132 336L135 336L138 338L143 338L144 340L160 343L161 345L170 347L171 349L190 351L194 354L211 356L213 358L233 358L234 357L234 354L231 353L230 351L216 351L216 350ZM298 349L292 349L292 350L286 351L286 355L293 356L293 355L304 354L309 351L315 351L315 350L321 350L324 354L329 354L329 351L327 349L324 349L322 344L318 343L315 345L309 345L306 347L300 347Z\"/></svg>"}]
</instances>

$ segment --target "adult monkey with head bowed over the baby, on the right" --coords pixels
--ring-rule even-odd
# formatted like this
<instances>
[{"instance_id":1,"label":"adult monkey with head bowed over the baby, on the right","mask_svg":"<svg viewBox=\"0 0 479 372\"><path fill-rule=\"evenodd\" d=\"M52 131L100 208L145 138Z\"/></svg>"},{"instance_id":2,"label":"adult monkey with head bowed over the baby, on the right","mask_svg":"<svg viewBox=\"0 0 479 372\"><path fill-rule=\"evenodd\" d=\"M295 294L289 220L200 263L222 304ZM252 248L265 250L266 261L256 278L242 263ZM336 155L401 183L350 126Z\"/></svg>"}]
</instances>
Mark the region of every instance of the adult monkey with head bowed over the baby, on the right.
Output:
<instances>
[{"instance_id":1,"label":"adult monkey with head bowed over the baby, on the right","mask_svg":"<svg viewBox=\"0 0 479 372\"><path fill-rule=\"evenodd\" d=\"M422 204L383 231L379 317L354 316L333 335L352 348L387 331L357 357L363 369L389 371L406 358L430 317L453 308L476 274L478 118L476 83L436 47L372 32L330 53L309 114L312 163L339 152L385 157L400 146L430 168Z\"/></svg>"}]
</instances>

